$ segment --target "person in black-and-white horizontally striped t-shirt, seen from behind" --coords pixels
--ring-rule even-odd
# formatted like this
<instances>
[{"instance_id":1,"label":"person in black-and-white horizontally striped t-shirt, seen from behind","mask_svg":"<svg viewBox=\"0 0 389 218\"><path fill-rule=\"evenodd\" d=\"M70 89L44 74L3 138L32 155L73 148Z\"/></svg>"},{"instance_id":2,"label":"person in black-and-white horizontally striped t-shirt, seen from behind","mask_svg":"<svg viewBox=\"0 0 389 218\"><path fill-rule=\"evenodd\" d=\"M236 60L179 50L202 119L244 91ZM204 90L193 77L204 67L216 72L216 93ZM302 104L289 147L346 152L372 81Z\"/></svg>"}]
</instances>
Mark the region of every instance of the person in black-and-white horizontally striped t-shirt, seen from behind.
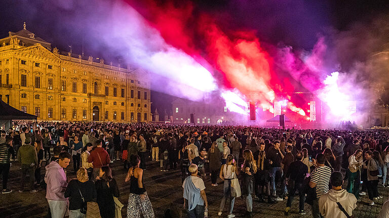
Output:
<instances>
[{"instance_id":1,"label":"person in black-and-white horizontally striped t-shirt, seen from behind","mask_svg":"<svg viewBox=\"0 0 389 218\"><path fill-rule=\"evenodd\" d=\"M326 158L323 154L316 155L317 168L312 172L309 181L310 188L316 188L316 199L312 204L312 216L314 218L323 217L319 211L319 198L328 192L329 182L331 178L331 168L324 165Z\"/></svg>"}]
</instances>

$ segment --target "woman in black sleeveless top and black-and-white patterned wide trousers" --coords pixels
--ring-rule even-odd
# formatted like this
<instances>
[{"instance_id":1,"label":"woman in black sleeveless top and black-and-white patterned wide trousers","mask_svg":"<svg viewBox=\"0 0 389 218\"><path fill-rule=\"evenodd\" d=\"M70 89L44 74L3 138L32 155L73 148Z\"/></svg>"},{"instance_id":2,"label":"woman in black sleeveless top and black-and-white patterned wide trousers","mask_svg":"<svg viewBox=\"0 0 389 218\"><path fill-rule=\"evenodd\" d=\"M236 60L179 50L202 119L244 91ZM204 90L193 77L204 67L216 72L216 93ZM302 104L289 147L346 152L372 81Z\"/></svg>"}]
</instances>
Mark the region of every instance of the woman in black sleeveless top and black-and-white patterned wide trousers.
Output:
<instances>
[{"instance_id":1,"label":"woman in black sleeveless top and black-and-white patterned wide trousers","mask_svg":"<svg viewBox=\"0 0 389 218\"><path fill-rule=\"evenodd\" d=\"M142 212L144 218L153 218L154 211L143 185L143 170L139 168L140 157L131 155L130 163L132 167L128 170L124 180L125 182L130 181L127 217L140 218L140 213Z\"/></svg>"}]
</instances>

